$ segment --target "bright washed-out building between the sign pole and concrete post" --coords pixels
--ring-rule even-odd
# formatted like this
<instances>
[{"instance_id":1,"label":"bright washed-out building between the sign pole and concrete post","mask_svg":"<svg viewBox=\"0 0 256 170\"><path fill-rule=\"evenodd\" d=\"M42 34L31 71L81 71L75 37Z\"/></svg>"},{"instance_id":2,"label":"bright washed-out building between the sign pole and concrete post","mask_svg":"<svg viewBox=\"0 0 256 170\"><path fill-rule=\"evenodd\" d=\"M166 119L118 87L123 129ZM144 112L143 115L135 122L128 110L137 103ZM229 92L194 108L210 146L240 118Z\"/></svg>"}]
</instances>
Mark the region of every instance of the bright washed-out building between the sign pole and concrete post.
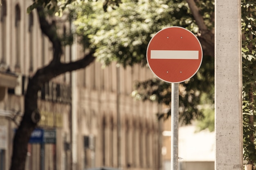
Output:
<instances>
[{"instance_id":1,"label":"bright washed-out building between the sign pole and concrete post","mask_svg":"<svg viewBox=\"0 0 256 170\"><path fill-rule=\"evenodd\" d=\"M180 170L214 170L215 132L197 131L195 125L179 128Z\"/></svg>"}]
</instances>

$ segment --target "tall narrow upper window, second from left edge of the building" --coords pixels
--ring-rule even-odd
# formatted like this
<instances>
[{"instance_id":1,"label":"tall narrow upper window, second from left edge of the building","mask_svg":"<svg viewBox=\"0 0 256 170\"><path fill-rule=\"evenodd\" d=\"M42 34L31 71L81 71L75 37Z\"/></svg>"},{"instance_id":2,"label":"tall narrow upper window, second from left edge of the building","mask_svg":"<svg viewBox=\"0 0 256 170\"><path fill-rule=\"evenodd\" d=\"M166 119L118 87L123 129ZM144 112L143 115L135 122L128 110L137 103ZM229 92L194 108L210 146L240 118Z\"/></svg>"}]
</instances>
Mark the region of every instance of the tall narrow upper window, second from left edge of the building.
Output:
<instances>
[{"instance_id":1,"label":"tall narrow upper window, second from left edge of the building","mask_svg":"<svg viewBox=\"0 0 256 170\"><path fill-rule=\"evenodd\" d=\"M20 6L15 6L16 68L20 68Z\"/></svg>"}]
</instances>

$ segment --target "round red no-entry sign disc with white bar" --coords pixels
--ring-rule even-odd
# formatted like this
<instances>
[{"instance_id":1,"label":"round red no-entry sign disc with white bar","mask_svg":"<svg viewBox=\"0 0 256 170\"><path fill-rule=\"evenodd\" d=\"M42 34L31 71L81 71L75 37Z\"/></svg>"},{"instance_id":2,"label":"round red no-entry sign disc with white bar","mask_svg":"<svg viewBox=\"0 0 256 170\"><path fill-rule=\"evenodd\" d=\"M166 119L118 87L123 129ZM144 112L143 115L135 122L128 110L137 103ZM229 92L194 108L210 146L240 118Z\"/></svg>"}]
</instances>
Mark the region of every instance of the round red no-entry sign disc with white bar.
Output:
<instances>
[{"instance_id":1,"label":"round red no-entry sign disc with white bar","mask_svg":"<svg viewBox=\"0 0 256 170\"><path fill-rule=\"evenodd\" d=\"M202 63L202 46L196 36L179 26L158 31L148 43L147 62L151 71L165 82L190 79Z\"/></svg>"}]
</instances>

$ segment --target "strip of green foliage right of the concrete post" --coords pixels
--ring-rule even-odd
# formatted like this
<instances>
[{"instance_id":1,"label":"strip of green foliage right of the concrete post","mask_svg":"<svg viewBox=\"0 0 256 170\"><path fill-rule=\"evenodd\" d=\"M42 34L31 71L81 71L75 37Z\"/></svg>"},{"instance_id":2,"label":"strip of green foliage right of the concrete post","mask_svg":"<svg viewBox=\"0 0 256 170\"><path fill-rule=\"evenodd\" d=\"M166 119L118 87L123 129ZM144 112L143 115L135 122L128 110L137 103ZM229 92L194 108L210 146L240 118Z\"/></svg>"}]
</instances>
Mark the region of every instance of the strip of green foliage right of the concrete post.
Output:
<instances>
[{"instance_id":1,"label":"strip of green foliage right of the concrete post","mask_svg":"<svg viewBox=\"0 0 256 170\"><path fill-rule=\"evenodd\" d=\"M243 57L243 137L244 159L256 162L256 2L242 0L242 57Z\"/></svg>"}]
</instances>

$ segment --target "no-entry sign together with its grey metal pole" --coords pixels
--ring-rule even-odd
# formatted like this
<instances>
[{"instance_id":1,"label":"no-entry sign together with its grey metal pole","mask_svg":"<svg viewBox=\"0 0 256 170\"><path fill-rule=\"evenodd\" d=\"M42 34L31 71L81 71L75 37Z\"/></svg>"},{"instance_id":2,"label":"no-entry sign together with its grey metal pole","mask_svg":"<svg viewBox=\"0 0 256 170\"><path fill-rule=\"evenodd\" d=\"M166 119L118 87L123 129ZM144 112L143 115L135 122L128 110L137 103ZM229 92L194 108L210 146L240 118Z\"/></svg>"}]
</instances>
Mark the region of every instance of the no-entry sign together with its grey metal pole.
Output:
<instances>
[{"instance_id":1,"label":"no-entry sign together with its grey metal pole","mask_svg":"<svg viewBox=\"0 0 256 170\"><path fill-rule=\"evenodd\" d=\"M151 38L146 57L150 70L159 79L172 84L171 170L178 170L179 83L193 77L200 68L202 46L191 31L171 26Z\"/></svg>"}]
</instances>

